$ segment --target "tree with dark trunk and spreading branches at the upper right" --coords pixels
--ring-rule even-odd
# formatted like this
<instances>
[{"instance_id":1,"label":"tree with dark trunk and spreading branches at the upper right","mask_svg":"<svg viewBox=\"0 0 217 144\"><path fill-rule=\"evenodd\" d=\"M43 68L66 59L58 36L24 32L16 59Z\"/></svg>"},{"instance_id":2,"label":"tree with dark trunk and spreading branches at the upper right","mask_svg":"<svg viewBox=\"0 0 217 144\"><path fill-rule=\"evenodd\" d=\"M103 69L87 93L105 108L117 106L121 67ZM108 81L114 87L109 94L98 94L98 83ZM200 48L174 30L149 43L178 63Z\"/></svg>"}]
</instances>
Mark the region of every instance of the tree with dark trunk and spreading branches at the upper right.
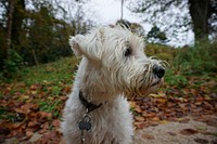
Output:
<instances>
[{"instance_id":1,"label":"tree with dark trunk and spreading branches at the upper right","mask_svg":"<svg viewBox=\"0 0 217 144\"><path fill-rule=\"evenodd\" d=\"M216 0L133 0L128 8L144 22L163 27L175 37L192 29L195 41L201 41L214 37L217 30L213 25L217 21Z\"/></svg>"}]
</instances>

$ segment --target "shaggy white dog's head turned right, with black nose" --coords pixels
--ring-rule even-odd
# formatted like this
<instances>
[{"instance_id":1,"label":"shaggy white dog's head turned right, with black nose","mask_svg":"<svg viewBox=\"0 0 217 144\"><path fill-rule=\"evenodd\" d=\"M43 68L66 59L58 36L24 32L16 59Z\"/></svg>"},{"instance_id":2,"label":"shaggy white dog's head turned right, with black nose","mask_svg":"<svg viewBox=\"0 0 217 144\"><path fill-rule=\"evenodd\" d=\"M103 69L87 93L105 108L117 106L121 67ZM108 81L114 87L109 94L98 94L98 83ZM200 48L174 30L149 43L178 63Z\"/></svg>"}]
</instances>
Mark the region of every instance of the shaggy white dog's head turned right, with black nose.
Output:
<instances>
[{"instance_id":1,"label":"shaggy white dog's head turned right, with black nose","mask_svg":"<svg viewBox=\"0 0 217 144\"><path fill-rule=\"evenodd\" d=\"M94 75L102 87L126 95L146 95L161 86L165 64L144 54L143 41L129 29L115 26L71 37L69 44L77 56L92 64L94 70L89 75Z\"/></svg>"}]
</instances>

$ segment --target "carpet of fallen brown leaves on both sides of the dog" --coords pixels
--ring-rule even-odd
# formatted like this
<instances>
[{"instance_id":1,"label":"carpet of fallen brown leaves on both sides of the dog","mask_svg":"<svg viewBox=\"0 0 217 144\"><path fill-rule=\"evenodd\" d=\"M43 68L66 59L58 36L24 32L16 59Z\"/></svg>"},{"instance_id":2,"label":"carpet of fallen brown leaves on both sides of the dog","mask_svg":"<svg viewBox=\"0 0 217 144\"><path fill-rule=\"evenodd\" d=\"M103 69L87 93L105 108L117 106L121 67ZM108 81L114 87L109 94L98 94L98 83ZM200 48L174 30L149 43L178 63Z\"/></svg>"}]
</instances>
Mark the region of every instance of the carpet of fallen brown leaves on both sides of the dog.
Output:
<instances>
[{"instance_id":1,"label":"carpet of fallen brown leaves on both sides of the dog","mask_svg":"<svg viewBox=\"0 0 217 144\"><path fill-rule=\"evenodd\" d=\"M217 96L213 92L217 82L208 80L196 86L201 79L189 77L191 87L179 88L165 83L157 93L130 100L135 118L135 129L166 125L170 121L188 122L187 116L194 120L217 127ZM16 138L26 141L34 133L41 134L34 143L59 143L62 141L60 121L62 109L72 84L60 81L27 84L25 82L0 83L0 142ZM205 128L203 128L205 129ZM183 129L181 134L195 134L199 129ZM177 133L168 132L170 135ZM154 139L144 134L145 139ZM206 143L203 140L195 140Z\"/></svg>"}]
</instances>

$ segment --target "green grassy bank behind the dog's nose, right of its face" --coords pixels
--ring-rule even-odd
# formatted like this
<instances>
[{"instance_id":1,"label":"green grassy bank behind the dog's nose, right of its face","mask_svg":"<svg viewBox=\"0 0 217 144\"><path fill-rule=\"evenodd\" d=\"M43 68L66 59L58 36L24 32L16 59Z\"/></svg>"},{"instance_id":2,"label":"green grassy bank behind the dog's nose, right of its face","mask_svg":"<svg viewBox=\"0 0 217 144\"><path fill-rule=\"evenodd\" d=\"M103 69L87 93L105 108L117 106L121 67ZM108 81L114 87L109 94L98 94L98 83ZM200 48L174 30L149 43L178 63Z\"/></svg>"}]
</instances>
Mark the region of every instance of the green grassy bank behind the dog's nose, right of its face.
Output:
<instances>
[{"instance_id":1,"label":"green grassy bank behind the dog's nose, right of its face","mask_svg":"<svg viewBox=\"0 0 217 144\"><path fill-rule=\"evenodd\" d=\"M217 70L217 42L204 42L193 48L174 49L162 44L148 44L145 54L167 61L174 70L184 75L203 75ZM178 78L180 79L180 78Z\"/></svg>"}]
</instances>

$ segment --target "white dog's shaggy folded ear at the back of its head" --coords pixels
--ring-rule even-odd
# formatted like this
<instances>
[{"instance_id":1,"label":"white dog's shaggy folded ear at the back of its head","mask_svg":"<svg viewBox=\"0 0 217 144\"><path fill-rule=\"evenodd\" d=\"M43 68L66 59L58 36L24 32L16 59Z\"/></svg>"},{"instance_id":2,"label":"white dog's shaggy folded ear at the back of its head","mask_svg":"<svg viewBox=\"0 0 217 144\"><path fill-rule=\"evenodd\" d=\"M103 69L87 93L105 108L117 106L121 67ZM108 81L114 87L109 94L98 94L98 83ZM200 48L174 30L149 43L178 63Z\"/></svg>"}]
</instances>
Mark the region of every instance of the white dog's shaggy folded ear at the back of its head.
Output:
<instances>
[{"instance_id":1,"label":"white dog's shaggy folded ear at the back of its head","mask_svg":"<svg viewBox=\"0 0 217 144\"><path fill-rule=\"evenodd\" d=\"M91 60L102 57L102 36L100 30L92 31L86 36L77 35L71 37L69 44L76 56L85 55Z\"/></svg>"}]
</instances>

